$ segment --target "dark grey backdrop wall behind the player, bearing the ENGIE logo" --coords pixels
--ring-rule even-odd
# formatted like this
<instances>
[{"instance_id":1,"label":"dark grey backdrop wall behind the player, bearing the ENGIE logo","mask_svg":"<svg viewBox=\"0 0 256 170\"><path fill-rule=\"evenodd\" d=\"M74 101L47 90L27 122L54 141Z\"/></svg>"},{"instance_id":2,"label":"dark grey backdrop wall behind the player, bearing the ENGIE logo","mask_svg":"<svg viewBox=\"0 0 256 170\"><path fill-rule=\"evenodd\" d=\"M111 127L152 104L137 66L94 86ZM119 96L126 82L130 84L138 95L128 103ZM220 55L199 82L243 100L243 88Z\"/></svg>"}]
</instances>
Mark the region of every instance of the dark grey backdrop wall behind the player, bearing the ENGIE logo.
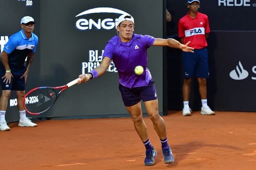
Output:
<instances>
[{"instance_id":1,"label":"dark grey backdrop wall behind the player, bearing the ENGIE logo","mask_svg":"<svg viewBox=\"0 0 256 170\"><path fill-rule=\"evenodd\" d=\"M121 14L129 13L134 17L135 34L163 37L162 1L113 0L109 3L105 0L73 0L71 3L68 0L41 0L33 1L34 4L30 8L26 7L25 3L26 1L17 0L2 2L1 15L8 9L12 9L13 12L1 17L1 20L5 18L2 23L11 24L4 24L5 28L1 27L0 33L1 36L10 36L18 32L20 19L25 15L33 16L37 21L35 33L39 37L39 47L28 75L26 91L38 86L64 85L76 79L79 74L87 73L99 65L107 41L116 35L115 22ZM148 68L155 80L161 114L162 65L163 48L150 47ZM118 73L111 63L104 76L82 85L72 86L62 93L53 108L40 116L90 118L127 115L118 84ZM15 92L12 92L10 101L15 98ZM8 104L7 122L19 119L18 109L14 106ZM143 113L146 113L144 105Z\"/></svg>"}]
</instances>

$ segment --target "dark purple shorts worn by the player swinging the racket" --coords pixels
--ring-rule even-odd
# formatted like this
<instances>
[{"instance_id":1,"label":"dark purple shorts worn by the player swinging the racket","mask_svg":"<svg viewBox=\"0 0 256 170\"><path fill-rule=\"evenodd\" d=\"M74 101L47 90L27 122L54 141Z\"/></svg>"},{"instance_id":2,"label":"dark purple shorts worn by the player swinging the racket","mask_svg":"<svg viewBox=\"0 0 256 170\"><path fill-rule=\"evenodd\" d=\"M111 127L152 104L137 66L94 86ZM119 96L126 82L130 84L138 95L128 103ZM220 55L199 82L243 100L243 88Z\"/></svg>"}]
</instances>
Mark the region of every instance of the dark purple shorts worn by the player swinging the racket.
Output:
<instances>
[{"instance_id":1,"label":"dark purple shorts worn by the player swinging the racket","mask_svg":"<svg viewBox=\"0 0 256 170\"><path fill-rule=\"evenodd\" d=\"M119 84L119 90L122 95L124 105L130 107L136 105L141 100L143 102L156 100L157 92L154 85L154 80L151 79L148 86L129 88Z\"/></svg>"}]
</instances>

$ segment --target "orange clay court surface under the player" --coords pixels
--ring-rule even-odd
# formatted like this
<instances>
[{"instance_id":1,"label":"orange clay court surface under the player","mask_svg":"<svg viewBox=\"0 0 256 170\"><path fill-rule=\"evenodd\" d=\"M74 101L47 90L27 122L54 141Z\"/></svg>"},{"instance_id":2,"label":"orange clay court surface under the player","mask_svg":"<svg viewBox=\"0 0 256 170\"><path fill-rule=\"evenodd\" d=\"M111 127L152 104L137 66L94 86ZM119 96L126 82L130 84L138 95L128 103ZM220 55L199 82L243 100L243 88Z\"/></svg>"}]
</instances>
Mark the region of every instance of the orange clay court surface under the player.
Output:
<instances>
[{"instance_id":1,"label":"orange clay court surface under the player","mask_svg":"<svg viewBox=\"0 0 256 170\"><path fill-rule=\"evenodd\" d=\"M130 118L36 121L0 131L1 170L256 170L256 113L163 116L175 162L164 164L161 143L144 121L157 150L144 165L145 147Z\"/></svg>"}]
</instances>

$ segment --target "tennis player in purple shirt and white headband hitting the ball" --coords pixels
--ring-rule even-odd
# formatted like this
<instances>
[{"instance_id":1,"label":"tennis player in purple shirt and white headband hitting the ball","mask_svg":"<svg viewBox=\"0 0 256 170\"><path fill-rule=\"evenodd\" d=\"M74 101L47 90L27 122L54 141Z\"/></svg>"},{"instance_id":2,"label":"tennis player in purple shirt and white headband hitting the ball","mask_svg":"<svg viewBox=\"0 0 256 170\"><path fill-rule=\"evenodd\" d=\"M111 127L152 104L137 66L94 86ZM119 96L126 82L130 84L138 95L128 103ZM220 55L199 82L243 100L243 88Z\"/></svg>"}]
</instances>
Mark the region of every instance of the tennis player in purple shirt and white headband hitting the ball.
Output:
<instances>
[{"instance_id":1,"label":"tennis player in purple shirt and white headband hitting the ball","mask_svg":"<svg viewBox=\"0 0 256 170\"><path fill-rule=\"evenodd\" d=\"M169 46L185 52L193 52L194 48L188 47L190 42L183 45L174 39L156 39L148 35L133 34L134 19L131 15L121 15L116 29L118 35L107 42L101 64L91 72L79 75L81 82L78 84L102 76L113 60L119 74L119 90L124 105L146 147L145 165L154 165L156 150L150 143L147 127L142 119L141 100L162 143L164 162L172 163L174 158L167 142L165 122L158 112L157 91L147 68L147 48L152 45ZM141 75L134 72L138 65L144 68Z\"/></svg>"}]
</instances>

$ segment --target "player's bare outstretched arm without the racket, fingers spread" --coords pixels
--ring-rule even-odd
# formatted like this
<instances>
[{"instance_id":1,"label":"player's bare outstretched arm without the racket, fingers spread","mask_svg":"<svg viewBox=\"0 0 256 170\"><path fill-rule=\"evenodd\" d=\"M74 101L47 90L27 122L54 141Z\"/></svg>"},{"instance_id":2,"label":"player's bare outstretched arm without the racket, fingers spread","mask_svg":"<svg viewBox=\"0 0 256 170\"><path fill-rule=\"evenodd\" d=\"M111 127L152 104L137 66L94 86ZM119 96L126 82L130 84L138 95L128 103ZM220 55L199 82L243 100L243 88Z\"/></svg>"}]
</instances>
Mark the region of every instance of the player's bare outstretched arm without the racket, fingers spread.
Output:
<instances>
[{"instance_id":1,"label":"player's bare outstretched arm without the racket, fingers spread","mask_svg":"<svg viewBox=\"0 0 256 170\"><path fill-rule=\"evenodd\" d=\"M178 48L181 49L182 51L185 52L194 52L192 51L194 48L188 46L190 42L184 44L181 44L180 42L178 42L177 40L174 39L156 39L155 42L153 43L153 45L157 45L157 46L169 46L172 48Z\"/></svg>"}]
</instances>

